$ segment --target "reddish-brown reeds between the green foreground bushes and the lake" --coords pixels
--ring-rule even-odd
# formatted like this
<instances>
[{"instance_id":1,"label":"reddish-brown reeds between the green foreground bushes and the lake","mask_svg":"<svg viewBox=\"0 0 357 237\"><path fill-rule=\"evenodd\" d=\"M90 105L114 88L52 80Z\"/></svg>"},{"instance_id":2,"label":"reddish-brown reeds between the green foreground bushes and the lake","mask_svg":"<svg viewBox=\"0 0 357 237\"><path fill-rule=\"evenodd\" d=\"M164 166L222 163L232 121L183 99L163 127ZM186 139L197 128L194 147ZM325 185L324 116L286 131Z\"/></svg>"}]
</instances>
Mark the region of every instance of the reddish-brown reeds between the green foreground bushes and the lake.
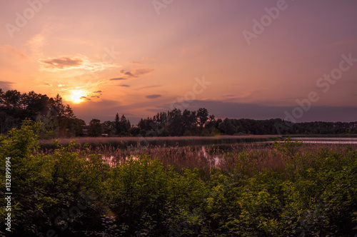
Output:
<instances>
[{"instance_id":1,"label":"reddish-brown reeds between the green foreground bushes and the lake","mask_svg":"<svg viewBox=\"0 0 357 237\"><path fill-rule=\"evenodd\" d=\"M159 159L164 166L172 166L179 173L185 169L198 169L202 178L209 178L212 173L236 173L240 171L246 174L256 174L261 171L271 170L286 172L286 166L293 163L296 167L308 168L321 152L334 151L346 152L347 149L357 149L356 144L320 144L301 143L296 148L294 161L284 152L278 151L273 142L261 143L233 143L226 145L210 146L141 146L131 144L126 148L118 148L110 143L96 146L76 144L71 151L79 153L79 156L88 156L89 153L100 155L111 167L119 166L129 158L139 158L141 154ZM52 153L54 149L44 148L43 153Z\"/></svg>"}]
</instances>

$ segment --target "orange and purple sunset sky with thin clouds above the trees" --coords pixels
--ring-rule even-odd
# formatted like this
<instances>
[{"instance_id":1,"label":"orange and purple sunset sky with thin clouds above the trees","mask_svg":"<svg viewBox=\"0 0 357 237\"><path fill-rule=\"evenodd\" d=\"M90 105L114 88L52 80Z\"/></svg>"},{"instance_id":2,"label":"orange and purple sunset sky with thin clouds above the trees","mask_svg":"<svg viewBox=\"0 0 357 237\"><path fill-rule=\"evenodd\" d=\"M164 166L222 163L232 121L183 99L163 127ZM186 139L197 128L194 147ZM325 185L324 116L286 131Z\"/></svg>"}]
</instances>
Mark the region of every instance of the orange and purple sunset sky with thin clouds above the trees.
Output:
<instances>
[{"instance_id":1,"label":"orange and purple sunset sky with thin clouds above the trees","mask_svg":"<svg viewBox=\"0 0 357 237\"><path fill-rule=\"evenodd\" d=\"M79 119L357 121L357 1L0 0L0 88Z\"/></svg>"}]
</instances>

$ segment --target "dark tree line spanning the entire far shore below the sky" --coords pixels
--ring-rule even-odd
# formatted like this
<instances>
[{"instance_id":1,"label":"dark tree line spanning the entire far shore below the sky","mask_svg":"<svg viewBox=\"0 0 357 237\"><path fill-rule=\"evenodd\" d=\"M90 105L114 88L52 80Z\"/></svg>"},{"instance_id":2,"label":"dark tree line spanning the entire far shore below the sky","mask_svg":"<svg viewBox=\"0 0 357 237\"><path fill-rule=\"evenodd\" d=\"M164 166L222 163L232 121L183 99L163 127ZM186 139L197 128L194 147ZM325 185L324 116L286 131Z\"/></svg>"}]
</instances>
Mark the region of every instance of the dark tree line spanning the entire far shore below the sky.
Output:
<instances>
[{"instance_id":1,"label":"dark tree line spanning the entire far shore below the sky","mask_svg":"<svg viewBox=\"0 0 357 237\"><path fill-rule=\"evenodd\" d=\"M39 121L40 138L74 136L217 136L243 134L357 134L357 122L291 123L282 119L216 119L205 108L173 109L131 124L124 115L113 121L92 119L87 125L76 118L61 96L55 98L0 89L0 133L19 128L25 119Z\"/></svg>"}]
</instances>

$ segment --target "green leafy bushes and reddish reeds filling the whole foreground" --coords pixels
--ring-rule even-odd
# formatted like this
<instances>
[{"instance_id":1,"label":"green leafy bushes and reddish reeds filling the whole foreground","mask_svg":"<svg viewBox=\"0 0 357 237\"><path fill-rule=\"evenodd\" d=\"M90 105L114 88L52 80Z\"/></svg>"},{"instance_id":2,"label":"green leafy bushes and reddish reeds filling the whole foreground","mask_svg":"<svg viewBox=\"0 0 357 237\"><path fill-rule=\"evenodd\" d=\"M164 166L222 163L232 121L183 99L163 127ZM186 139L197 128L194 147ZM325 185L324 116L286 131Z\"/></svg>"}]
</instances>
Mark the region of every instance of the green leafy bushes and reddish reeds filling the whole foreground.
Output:
<instances>
[{"instance_id":1,"label":"green leafy bushes and reddish reeds filling the whole foreground","mask_svg":"<svg viewBox=\"0 0 357 237\"><path fill-rule=\"evenodd\" d=\"M216 151L147 147L113 165L109 148L43 153L30 124L1 139L13 236L356 235L356 146L232 146L215 165Z\"/></svg>"}]
</instances>

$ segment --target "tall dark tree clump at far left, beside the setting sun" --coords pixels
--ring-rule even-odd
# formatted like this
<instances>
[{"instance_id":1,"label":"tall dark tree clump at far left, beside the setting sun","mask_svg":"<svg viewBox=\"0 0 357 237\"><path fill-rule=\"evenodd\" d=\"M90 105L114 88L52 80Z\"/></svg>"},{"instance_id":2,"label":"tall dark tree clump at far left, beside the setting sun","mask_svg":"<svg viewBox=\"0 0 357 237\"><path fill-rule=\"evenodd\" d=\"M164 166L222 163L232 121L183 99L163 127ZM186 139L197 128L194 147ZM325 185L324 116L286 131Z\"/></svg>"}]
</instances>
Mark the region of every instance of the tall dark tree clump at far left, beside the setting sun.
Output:
<instances>
[{"instance_id":1,"label":"tall dark tree clump at far left, beside the setting sun","mask_svg":"<svg viewBox=\"0 0 357 237\"><path fill-rule=\"evenodd\" d=\"M41 122L41 138L82 136L86 125L68 104L64 105L59 94L50 98L34 91L21 94L0 89L0 133L19 128L24 119Z\"/></svg>"}]
</instances>

